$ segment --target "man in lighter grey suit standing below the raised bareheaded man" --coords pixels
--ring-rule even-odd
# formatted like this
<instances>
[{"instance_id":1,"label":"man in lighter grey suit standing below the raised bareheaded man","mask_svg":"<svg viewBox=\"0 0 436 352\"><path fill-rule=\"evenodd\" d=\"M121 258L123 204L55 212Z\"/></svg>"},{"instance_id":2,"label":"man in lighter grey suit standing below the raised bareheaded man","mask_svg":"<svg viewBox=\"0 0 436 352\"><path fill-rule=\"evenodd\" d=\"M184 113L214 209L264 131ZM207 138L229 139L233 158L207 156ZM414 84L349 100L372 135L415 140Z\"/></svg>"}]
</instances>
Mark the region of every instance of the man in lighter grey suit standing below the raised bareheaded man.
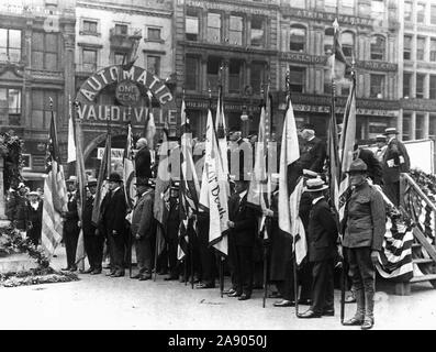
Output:
<instances>
[{"instance_id":1,"label":"man in lighter grey suit standing below the raised bareheaded man","mask_svg":"<svg viewBox=\"0 0 436 352\"><path fill-rule=\"evenodd\" d=\"M153 216L155 191L147 179L136 184L138 200L133 208L132 235L135 239L136 261L138 273L132 278L147 280L152 278L153 268L153 237L156 223Z\"/></svg>"}]
</instances>

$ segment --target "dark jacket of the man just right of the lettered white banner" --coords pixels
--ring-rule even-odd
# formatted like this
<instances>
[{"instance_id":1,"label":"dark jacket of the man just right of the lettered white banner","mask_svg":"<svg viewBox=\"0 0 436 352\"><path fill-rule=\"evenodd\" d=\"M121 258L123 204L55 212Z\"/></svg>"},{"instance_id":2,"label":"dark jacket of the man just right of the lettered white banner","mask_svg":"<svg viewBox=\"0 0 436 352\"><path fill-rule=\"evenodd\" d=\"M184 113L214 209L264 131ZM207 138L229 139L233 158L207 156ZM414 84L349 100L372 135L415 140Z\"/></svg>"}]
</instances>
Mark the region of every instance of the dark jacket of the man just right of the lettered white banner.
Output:
<instances>
[{"instance_id":1,"label":"dark jacket of the man just right of the lettered white banner","mask_svg":"<svg viewBox=\"0 0 436 352\"><path fill-rule=\"evenodd\" d=\"M257 233L257 218L253 208L247 207L247 195L239 202L239 195L233 195L228 200L228 218L235 223L231 229L231 237L235 244L241 246L254 246Z\"/></svg>"}]
</instances>

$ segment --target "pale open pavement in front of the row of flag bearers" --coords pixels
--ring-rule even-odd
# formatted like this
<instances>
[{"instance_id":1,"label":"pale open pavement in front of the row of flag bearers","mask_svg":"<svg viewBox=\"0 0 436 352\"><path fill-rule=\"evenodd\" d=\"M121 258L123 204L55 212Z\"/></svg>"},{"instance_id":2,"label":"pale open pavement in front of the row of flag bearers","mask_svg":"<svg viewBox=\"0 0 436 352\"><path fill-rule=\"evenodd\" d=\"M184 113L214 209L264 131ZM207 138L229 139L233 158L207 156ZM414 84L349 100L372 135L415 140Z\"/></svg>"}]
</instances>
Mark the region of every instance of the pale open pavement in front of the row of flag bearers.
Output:
<instances>
[{"instance_id":1,"label":"pale open pavement in front of the row of flag bearers","mask_svg":"<svg viewBox=\"0 0 436 352\"><path fill-rule=\"evenodd\" d=\"M59 248L52 266L65 266ZM339 292L335 317L299 319L295 308L276 308L275 299L262 308L262 290L251 299L220 297L220 290L191 289L179 282L138 282L104 275L79 274L71 283L0 288L0 329L165 329L165 330L360 330L339 321ZM391 285L380 285L376 296L374 329L436 329L436 289L412 286L411 296L394 296ZM228 283L226 286L228 287ZM304 311L308 306L300 306ZM355 305L346 305L346 318Z\"/></svg>"}]
</instances>

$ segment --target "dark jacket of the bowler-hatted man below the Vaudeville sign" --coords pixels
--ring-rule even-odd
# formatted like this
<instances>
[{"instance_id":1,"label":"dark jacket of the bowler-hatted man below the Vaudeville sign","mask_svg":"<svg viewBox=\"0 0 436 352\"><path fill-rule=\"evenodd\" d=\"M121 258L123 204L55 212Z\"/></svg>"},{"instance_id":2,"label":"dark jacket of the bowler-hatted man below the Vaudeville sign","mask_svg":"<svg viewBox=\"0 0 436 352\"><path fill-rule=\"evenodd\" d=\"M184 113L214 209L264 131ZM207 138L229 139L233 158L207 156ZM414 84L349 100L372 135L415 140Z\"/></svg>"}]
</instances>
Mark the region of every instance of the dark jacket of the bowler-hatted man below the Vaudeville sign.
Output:
<instances>
[{"instance_id":1,"label":"dark jacket of the bowler-hatted man below the Vaudeville sign","mask_svg":"<svg viewBox=\"0 0 436 352\"><path fill-rule=\"evenodd\" d=\"M113 230L123 234L126 230L125 216L127 205L125 202L125 196L123 188L118 189L112 198L108 191L101 204L102 207L102 222L101 229L104 233L111 234Z\"/></svg>"}]
</instances>

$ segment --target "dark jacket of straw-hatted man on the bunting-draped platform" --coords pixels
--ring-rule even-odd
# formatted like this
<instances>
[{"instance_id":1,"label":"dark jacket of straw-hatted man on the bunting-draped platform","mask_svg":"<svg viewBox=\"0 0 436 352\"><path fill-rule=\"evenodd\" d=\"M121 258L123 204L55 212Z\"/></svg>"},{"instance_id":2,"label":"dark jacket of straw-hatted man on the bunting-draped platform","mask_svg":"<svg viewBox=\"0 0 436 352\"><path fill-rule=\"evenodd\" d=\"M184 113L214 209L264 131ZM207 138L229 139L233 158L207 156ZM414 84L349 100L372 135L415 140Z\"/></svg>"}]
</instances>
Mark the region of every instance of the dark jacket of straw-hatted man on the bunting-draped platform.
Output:
<instances>
[{"instance_id":1,"label":"dark jacket of straw-hatted man on the bunting-draped platform","mask_svg":"<svg viewBox=\"0 0 436 352\"><path fill-rule=\"evenodd\" d=\"M389 166L389 161L393 162L393 166ZM403 143L393 139L383 155L383 182L392 184L400 180L400 173L409 173L411 161Z\"/></svg>"}]
</instances>

